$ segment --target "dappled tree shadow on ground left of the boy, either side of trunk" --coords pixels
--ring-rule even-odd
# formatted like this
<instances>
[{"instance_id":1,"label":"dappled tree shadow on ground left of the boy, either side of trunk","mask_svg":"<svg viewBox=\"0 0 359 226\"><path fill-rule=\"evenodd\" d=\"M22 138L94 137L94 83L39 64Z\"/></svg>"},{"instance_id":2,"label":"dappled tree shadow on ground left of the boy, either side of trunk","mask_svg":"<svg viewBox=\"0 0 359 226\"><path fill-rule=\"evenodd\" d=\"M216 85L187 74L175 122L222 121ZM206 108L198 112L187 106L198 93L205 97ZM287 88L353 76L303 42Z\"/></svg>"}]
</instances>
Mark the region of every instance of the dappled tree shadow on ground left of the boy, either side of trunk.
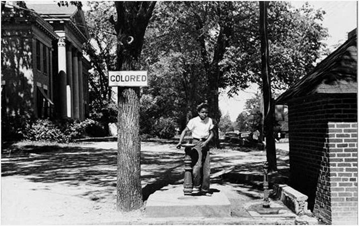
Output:
<instances>
[{"instance_id":1,"label":"dappled tree shadow on ground left of the boy, either side of trunk","mask_svg":"<svg viewBox=\"0 0 359 226\"><path fill-rule=\"evenodd\" d=\"M179 152L141 151L143 199L183 178L184 154ZM62 183L70 186L91 185L107 194L116 190L117 150L57 145L2 149L2 176L20 175L32 182ZM85 195L85 194L84 194Z\"/></svg>"}]
</instances>

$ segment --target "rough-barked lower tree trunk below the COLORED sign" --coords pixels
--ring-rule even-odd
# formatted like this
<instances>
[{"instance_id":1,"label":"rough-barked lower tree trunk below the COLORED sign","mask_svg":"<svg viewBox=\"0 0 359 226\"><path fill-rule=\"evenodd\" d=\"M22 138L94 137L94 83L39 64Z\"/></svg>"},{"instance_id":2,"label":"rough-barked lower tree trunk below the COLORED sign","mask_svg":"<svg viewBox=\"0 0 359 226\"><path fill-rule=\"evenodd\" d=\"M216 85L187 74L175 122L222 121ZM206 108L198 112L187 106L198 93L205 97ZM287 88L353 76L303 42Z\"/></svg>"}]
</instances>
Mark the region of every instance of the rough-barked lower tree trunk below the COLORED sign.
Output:
<instances>
[{"instance_id":1,"label":"rough-barked lower tree trunk below the COLORED sign","mask_svg":"<svg viewBox=\"0 0 359 226\"><path fill-rule=\"evenodd\" d=\"M117 209L140 208L139 88L118 87Z\"/></svg>"}]
</instances>

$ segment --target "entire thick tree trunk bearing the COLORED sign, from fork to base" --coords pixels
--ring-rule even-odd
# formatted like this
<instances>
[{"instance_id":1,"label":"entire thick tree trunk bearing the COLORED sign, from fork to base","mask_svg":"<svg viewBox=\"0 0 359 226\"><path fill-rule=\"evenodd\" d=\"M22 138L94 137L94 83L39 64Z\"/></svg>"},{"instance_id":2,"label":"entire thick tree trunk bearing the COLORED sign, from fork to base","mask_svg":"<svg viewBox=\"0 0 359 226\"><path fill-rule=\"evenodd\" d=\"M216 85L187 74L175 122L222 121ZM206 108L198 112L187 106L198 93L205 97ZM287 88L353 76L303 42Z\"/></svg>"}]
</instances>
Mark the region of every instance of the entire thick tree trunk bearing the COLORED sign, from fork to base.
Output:
<instances>
[{"instance_id":1,"label":"entire thick tree trunk bearing the COLORED sign, from fork to base","mask_svg":"<svg viewBox=\"0 0 359 226\"><path fill-rule=\"evenodd\" d=\"M145 32L156 2L115 2L117 70L139 70ZM140 208L139 87L118 87L117 209Z\"/></svg>"}]
</instances>

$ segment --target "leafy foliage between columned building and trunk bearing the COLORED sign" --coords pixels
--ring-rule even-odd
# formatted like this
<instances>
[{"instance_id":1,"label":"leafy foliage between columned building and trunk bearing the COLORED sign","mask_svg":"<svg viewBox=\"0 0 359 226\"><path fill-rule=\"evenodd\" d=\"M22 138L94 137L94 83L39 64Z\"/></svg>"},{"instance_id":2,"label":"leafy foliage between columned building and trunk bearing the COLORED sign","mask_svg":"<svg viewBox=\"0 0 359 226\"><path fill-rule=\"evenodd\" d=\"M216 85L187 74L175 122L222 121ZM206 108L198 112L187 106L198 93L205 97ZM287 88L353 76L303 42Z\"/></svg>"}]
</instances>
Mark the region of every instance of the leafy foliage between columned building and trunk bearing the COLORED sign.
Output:
<instances>
[{"instance_id":1,"label":"leafy foliage between columned building and trunk bearing the COLORED sign","mask_svg":"<svg viewBox=\"0 0 359 226\"><path fill-rule=\"evenodd\" d=\"M107 128L117 117L117 103L113 102L108 85L108 71L116 69L117 39L108 20L115 8L112 2L88 2L87 6L85 17L91 39L84 45L84 51L93 68L89 76L90 118Z\"/></svg>"}]
</instances>

